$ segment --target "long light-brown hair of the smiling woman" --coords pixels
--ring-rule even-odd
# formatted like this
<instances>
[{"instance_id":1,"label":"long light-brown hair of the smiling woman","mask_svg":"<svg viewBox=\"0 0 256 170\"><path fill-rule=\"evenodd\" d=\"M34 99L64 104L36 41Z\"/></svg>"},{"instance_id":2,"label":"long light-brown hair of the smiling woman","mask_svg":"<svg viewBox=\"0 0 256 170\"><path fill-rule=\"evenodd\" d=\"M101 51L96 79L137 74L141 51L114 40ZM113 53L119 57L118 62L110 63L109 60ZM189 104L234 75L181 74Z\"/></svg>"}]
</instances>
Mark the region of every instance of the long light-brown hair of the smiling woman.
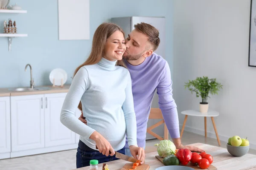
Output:
<instances>
[{"instance_id":1,"label":"long light-brown hair of the smiling woman","mask_svg":"<svg viewBox=\"0 0 256 170\"><path fill-rule=\"evenodd\" d=\"M79 71L81 67L84 65L93 65L98 63L102 57L104 56L104 51L105 51L105 45L107 42L107 39L115 32L115 31L121 31L122 34L125 37L125 32L122 30L121 27L117 26L114 23L102 23L95 31L93 35L93 44L92 44L92 49L90 52L90 55L88 59L81 65L79 65L78 68L76 68L74 72L74 77ZM117 60L116 65L120 65L122 67L126 68L125 63L123 60ZM79 102L78 108L82 111L82 105L81 101Z\"/></svg>"}]
</instances>

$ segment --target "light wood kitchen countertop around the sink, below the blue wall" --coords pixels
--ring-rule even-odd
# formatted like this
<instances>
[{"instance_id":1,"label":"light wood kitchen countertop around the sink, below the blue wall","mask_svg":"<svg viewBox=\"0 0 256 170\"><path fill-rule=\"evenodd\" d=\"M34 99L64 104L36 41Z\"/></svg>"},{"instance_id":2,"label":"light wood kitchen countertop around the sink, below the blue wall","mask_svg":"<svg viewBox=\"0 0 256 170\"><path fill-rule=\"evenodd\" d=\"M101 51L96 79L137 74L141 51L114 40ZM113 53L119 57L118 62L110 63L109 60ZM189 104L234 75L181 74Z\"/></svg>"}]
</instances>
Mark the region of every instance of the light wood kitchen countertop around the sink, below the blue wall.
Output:
<instances>
[{"instance_id":1,"label":"light wood kitchen countertop around the sink, below the blue wall","mask_svg":"<svg viewBox=\"0 0 256 170\"><path fill-rule=\"evenodd\" d=\"M49 90L37 90L37 91L10 91L9 88L0 88L0 97L3 96L23 96L23 95L34 95L34 94L50 94L50 93L66 93L68 92L70 85L63 85L63 87L52 87L52 85L35 86L37 87L48 87ZM24 87L22 87L24 88Z\"/></svg>"}]
</instances>

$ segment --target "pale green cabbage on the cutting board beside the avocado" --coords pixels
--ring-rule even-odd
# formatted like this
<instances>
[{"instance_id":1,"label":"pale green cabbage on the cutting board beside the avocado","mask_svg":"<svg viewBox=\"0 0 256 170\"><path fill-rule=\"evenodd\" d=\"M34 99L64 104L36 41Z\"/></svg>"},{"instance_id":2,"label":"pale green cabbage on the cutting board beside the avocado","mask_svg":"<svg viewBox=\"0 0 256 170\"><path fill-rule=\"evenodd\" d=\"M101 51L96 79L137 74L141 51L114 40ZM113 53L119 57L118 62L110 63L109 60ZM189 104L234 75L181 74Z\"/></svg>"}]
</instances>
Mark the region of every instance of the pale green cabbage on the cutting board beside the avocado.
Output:
<instances>
[{"instance_id":1,"label":"pale green cabbage on the cutting board beside the avocado","mask_svg":"<svg viewBox=\"0 0 256 170\"><path fill-rule=\"evenodd\" d=\"M154 144L154 146L157 146L157 153L163 158L175 154L175 144L170 140L161 140L159 144Z\"/></svg>"}]
</instances>

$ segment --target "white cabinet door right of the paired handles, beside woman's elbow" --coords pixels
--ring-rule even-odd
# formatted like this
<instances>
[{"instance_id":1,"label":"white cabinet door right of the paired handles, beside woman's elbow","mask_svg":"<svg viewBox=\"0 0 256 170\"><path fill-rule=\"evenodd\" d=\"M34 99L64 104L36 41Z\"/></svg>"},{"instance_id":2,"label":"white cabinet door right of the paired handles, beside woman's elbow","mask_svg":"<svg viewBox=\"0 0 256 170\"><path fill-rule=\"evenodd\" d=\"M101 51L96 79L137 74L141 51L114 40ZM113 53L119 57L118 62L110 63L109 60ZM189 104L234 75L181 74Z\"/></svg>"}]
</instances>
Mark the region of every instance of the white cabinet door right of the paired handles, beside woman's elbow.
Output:
<instances>
[{"instance_id":1,"label":"white cabinet door right of the paired handles, beside woman's elbow","mask_svg":"<svg viewBox=\"0 0 256 170\"><path fill-rule=\"evenodd\" d=\"M75 144L75 133L60 122L67 93L44 94L45 147Z\"/></svg>"}]
</instances>

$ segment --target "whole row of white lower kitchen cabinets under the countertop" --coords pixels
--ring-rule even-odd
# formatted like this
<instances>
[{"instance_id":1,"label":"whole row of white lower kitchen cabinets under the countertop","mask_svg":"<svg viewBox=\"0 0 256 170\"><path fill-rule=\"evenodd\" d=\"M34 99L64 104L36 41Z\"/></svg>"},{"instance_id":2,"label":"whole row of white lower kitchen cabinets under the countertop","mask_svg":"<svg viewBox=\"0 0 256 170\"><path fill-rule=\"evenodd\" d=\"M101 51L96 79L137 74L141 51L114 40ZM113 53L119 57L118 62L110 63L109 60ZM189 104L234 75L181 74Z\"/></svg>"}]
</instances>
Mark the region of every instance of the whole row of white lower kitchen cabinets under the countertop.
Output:
<instances>
[{"instance_id":1,"label":"whole row of white lower kitchen cabinets under the countertop","mask_svg":"<svg viewBox=\"0 0 256 170\"><path fill-rule=\"evenodd\" d=\"M77 149L79 135L60 122L66 95L0 97L0 159Z\"/></svg>"}]
</instances>

